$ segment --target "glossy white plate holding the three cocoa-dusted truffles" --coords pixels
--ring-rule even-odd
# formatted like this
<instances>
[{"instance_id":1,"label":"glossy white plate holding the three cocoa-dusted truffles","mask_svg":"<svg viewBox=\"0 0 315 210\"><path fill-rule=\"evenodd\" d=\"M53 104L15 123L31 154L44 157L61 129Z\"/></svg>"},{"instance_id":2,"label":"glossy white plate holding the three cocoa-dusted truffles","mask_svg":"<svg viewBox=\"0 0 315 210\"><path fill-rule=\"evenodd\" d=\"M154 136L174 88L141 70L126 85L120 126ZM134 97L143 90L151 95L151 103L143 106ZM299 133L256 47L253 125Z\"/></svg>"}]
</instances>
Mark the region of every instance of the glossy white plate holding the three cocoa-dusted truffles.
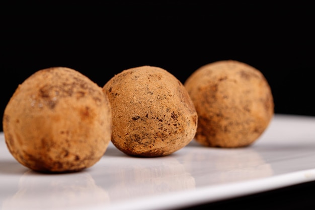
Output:
<instances>
[{"instance_id":1,"label":"glossy white plate holding the three cocoa-dusted truffles","mask_svg":"<svg viewBox=\"0 0 315 210\"><path fill-rule=\"evenodd\" d=\"M276 114L250 147L191 142L168 157L132 158L110 144L90 169L40 174L0 133L0 209L170 209L315 180L315 117Z\"/></svg>"}]
</instances>

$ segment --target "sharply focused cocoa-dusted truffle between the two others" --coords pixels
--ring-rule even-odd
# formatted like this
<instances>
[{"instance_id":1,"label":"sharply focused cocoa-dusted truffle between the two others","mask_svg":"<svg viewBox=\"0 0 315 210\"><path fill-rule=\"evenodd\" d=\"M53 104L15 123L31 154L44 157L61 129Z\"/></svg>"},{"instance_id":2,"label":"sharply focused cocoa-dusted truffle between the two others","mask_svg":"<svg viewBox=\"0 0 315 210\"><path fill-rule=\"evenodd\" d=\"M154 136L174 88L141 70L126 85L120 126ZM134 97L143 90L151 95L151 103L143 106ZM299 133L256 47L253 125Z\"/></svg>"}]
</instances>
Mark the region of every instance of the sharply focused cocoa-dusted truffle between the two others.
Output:
<instances>
[{"instance_id":1,"label":"sharply focused cocoa-dusted truffle between the two others","mask_svg":"<svg viewBox=\"0 0 315 210\"><path fill-rule=\"evenodd\" d=\"M193 139L195 107L183 84L164 69L127 69L108 81L103 91L112 105L112 142L125 154L166 156Z\"/></svg>"}]
</instances>

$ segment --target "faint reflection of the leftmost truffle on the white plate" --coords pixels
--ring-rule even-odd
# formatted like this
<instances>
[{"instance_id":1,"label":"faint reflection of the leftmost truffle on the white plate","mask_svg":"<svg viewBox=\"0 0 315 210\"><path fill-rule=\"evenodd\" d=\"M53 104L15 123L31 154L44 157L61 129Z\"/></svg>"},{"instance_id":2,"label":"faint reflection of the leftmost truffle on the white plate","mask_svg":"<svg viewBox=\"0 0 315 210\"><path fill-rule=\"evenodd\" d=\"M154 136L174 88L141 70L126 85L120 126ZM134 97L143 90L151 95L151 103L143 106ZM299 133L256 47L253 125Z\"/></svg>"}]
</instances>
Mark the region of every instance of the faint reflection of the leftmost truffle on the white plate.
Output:
<instances>
[{"instance_id":1,"label":"faint reflection of the leftmost truffle on the white plate","mask_svg":"<svg viewBox=\"0 0 315 210\"><path fill-rule=\"evenodd\" d=\"M108 203L108 192L98 186L89 173L43 176L29 170L20 178L18 191L7 197L0 208L50 210L72 206L80 209Z\"/></svg>"}]
</instances>

